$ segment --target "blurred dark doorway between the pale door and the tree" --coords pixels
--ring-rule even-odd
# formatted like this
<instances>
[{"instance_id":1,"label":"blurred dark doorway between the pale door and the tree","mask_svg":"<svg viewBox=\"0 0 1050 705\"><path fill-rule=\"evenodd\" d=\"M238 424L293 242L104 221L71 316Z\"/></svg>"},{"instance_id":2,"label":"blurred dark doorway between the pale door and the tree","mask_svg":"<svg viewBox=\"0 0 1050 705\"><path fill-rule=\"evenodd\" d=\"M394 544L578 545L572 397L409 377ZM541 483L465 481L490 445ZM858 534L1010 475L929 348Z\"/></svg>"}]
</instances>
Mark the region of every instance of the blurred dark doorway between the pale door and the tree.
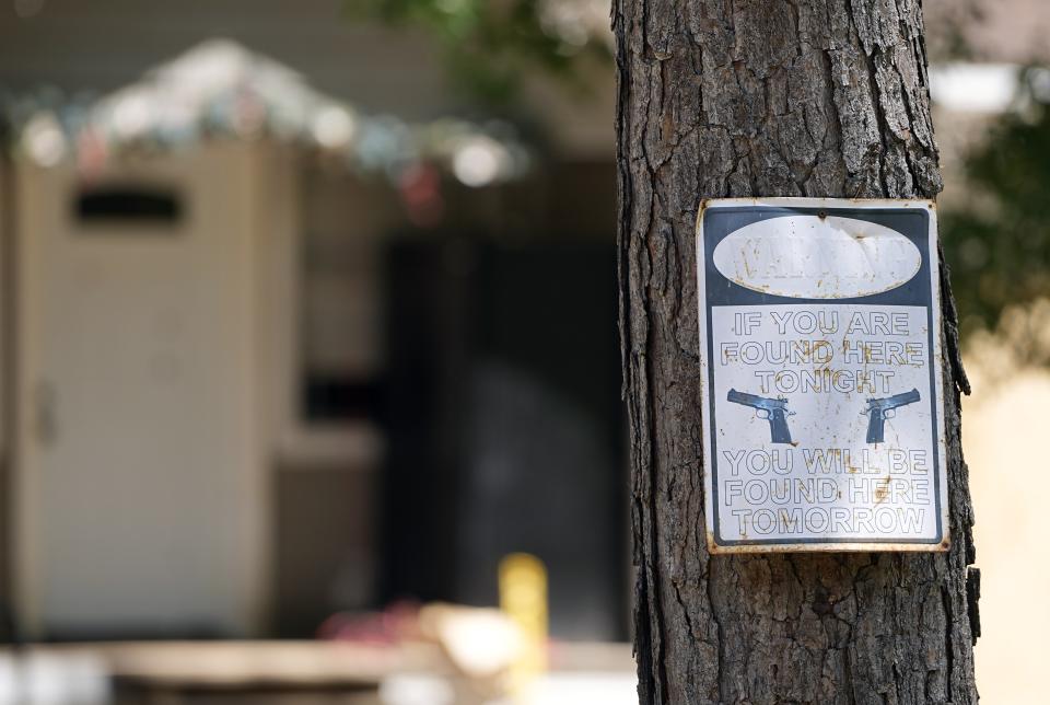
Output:
<instances>
[{"instance_id":1,"label":"blurred dark doorway between the pale door and the tree","mask_svg":"<svg viewBox=\"0 0 1050 705\"><path fill-rule=\"evenodd\" d=\"M392 250L385 599L495 604L524 551L555 636L626 636L615 273L604 241Z\"/></svg>"}]
</instances>

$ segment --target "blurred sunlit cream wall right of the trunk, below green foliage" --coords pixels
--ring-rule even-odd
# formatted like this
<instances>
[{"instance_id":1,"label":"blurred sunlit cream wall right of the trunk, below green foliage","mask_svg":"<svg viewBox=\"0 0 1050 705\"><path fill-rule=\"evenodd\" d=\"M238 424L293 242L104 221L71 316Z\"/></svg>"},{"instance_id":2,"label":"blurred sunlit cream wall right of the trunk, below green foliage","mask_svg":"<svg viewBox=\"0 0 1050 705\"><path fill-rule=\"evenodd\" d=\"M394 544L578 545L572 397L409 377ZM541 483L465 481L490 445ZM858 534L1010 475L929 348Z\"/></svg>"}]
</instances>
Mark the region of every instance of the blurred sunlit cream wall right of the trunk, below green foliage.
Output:
<instances>
[{"instance_id":1,"label":"blurred sunlit cream wall right of the trunk, below green foliage","mask_svg":"<svg viewBox=\"0 0 1050 705\"><path fill-rule=\"evenodd\" d=\"M1004 375L984 371L989 363ZM1050 633L1050 371L1004 369L994 358L971 358L968 369L973 395L962 404L962 448L977 516L983 632L977 685L988 703L1042 702Z\"/></svg>"}]
</instances>

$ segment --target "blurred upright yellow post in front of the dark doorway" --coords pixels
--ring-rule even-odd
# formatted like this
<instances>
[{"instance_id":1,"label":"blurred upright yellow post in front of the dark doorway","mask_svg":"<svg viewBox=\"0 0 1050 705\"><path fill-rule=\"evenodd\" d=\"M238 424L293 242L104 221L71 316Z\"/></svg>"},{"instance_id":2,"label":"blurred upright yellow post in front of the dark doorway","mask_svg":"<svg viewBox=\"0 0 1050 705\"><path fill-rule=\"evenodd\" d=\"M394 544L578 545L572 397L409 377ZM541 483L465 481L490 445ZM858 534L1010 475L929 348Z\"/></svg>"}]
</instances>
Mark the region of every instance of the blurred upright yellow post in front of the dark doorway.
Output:
<instances>
[{"instance_id":1,"label":"blurred upright yellow post in front of the dark doorway","mask_svg":"<svg viewBox=\"0 0 1050 705\"><path fill-rule=\"evenodd\" d=\"M547 567L536 556L512 553L500 562L500 609L522 632L523 644L511 664L509 693L525 696L547 669Z\"/></svg>"}]
</instances>

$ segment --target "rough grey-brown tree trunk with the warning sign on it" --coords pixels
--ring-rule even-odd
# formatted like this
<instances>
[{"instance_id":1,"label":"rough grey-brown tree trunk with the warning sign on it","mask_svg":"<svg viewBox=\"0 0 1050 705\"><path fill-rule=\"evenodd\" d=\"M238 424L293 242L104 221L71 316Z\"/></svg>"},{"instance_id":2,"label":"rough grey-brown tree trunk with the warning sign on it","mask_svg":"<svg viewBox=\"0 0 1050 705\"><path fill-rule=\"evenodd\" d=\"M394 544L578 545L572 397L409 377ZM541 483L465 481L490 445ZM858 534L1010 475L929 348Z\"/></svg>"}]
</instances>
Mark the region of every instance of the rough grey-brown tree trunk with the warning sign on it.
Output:
<instances>
[{"instance_id":1,"label":"rough grey-brown tree trunk with the warning sign on it","mask_svg":"<svg viewBox=\"0 0 1050 705\"><path fill-rule=\"evenodd\" d=\"M976 703L968 389L943 266L950 552L704 545L698 204L935 196L919 0L615 0L612 15L641 701Z\"/></svg>"}]
</instances>

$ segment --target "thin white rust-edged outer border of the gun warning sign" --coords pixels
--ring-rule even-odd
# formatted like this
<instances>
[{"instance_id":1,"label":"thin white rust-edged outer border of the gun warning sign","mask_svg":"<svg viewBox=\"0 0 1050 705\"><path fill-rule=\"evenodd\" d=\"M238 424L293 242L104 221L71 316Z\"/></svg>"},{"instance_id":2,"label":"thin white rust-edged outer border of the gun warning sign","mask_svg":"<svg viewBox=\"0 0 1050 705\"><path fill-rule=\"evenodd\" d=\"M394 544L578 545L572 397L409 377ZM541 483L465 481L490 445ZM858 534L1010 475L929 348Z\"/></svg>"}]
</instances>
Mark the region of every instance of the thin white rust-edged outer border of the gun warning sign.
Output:
<instances>
[{"instance_id":1,"label":"thin white rust-edged outer border of the gun warning sign","mask_svg":"<svg viewBox=\"0 0 1050 705\"><path fill-rule=\"evenodd\" d=\"M703 438L703 497L704 522L707 524L707 544L711 554L734 553L871 553L871 552L944 552L950 545L950 524L948 506L948 465L947 465L947 434L945 430L944 405L938 404L937 417L937 484L941 505L941 538L930 542L806 542L806 543L733 543L720 545L714 531L714 506L711 472L713 459L709 456L711 449L711 424L708 423L711 409L714 407L711 390L708 388L708 321L707 321L707 280L704 276L703 249L703 217L709 210L720 208L739 208L740 206L768 208L826 208L826 209L906 209L915 208L925 210L929 215L929 241L924 256L930 257L931 285L931 314L933 319L933 355L930 363L933 366L934 386L937 400L944 400L944 324L941 320L941 262L937 249L937 218L936 204L933 200L887 198L705 198L700 201L697 212L696 256L697 256L697 313L700 333L700 400L702 408L702 438ZM757 540L760 541L760 540Z\"/></svg>"}]
</instances>

